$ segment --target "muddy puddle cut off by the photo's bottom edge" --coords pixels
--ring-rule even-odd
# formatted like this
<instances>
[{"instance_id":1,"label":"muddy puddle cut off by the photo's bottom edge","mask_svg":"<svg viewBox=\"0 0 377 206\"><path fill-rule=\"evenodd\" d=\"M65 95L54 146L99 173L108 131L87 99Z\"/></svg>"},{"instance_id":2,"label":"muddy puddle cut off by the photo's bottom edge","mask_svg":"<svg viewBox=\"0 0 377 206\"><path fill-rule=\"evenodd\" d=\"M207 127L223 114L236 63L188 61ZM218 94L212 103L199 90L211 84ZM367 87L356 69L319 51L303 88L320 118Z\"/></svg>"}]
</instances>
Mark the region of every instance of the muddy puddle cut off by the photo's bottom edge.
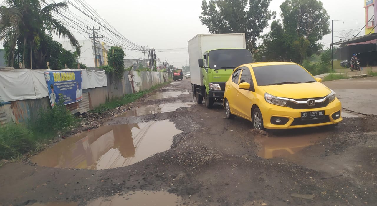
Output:
<instances>
[{"instance_id":1,"label":"muddy puddle cut off by the photo's bottom edge","mask_svg":"<svg viewBox=\"0 0 377 206\"><path fill-rule=\"evenodd\" d=\"M122 196L115 195L113 197L102 197L97 200L87 203L89 206L118 206L118 205L132 205L132 206L145 206L145 205L163 205L175 206L179 205L179 197L169 194L168 192L147 192L136 191Z\"/></svg>"}]
</instances>

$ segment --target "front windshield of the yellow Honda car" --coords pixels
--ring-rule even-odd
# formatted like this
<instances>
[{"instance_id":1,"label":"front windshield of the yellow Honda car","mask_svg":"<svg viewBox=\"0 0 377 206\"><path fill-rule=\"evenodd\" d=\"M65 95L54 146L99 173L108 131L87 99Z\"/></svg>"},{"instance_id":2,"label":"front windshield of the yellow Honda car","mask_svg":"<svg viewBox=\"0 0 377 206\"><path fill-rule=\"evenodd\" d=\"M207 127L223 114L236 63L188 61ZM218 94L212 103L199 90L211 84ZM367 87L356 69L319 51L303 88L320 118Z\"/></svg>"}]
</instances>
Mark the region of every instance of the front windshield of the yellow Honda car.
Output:
<instances>
[{"instance_id":1,"label":"front windshield of the yellow Honda car","mask_svg":"<svg viewBox=\"0 0 377 206\"><path fill-rule=\"evenodd\" d=\"M316 79L297 64L253 67L258 86L316 82Z\"/></svg>"}]
</instances>

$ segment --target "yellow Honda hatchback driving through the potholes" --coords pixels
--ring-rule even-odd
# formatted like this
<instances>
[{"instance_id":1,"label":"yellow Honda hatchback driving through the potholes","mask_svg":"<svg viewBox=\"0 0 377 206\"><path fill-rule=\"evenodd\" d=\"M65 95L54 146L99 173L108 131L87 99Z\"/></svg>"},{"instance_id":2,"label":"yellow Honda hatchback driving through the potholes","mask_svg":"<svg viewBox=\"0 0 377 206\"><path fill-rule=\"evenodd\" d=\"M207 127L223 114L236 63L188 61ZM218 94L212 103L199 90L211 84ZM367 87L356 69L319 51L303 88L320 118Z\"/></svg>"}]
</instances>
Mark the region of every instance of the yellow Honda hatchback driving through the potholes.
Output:
<instances>
[{"instance_id":1,"label":"yellow Honda hatchback driving through the potholes","mask_svg":"<svg viewBox=\"0 0 377 206\"><path fill-rule=\"evenodd\" d=\"M248 119L257 130L336 125L342 104L321 81L296 63L241 65L225 84L226 116Z\"/></svg>"}]
</instances>

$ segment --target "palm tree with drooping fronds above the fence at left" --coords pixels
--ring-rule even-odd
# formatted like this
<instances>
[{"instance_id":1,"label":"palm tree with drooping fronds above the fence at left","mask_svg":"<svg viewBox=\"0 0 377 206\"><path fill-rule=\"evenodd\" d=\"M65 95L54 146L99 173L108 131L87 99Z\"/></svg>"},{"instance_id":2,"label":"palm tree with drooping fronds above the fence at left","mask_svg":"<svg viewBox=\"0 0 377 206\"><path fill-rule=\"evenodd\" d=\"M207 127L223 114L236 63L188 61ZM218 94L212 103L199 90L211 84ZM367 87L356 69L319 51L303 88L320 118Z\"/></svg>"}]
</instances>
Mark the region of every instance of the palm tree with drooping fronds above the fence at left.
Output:
<instances>
[{"instance_id":1,"label":"palm tree with drooping fronds above the fence at left","mask_svg":"<svg viewBox=\"0 0 377 206\"><path fill-rule=\"evenodd\" d=\"M80 44L74 35L52 16L53 13L68 9L66 2L47 4L44 0L5 0L5 5L0 8L0 41L8 46L8 66L13 66L17 46L17 55L22 56L24 67L25 57L29 53L30 68L33 68L32 62L37 63L35 68L44 68L44 58L49 47L46 30L68 38L80 54Z\"/></svg>"}]
</instances>

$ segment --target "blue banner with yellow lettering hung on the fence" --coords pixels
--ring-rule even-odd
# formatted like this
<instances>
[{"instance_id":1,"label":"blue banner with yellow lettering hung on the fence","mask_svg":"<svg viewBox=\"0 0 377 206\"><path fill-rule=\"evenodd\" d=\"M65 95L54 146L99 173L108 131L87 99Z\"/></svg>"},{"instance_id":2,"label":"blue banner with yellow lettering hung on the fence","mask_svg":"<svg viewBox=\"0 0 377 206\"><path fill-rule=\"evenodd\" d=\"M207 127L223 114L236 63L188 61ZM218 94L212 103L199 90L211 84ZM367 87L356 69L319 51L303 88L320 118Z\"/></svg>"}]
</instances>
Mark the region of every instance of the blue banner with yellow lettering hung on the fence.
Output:
<instances>
[{"instance_id":1,"label":"blue banner with yellow lettering hung on the fence","mask_svg":"<svg viewBox=\"0 0 377 206\"><path fill-rule=\"evenodd\" d=\"M78 71L46 71L47 89L54 107L62 101L64 105L83 99L83 72Z\"/></svg>"}]
</instances>

